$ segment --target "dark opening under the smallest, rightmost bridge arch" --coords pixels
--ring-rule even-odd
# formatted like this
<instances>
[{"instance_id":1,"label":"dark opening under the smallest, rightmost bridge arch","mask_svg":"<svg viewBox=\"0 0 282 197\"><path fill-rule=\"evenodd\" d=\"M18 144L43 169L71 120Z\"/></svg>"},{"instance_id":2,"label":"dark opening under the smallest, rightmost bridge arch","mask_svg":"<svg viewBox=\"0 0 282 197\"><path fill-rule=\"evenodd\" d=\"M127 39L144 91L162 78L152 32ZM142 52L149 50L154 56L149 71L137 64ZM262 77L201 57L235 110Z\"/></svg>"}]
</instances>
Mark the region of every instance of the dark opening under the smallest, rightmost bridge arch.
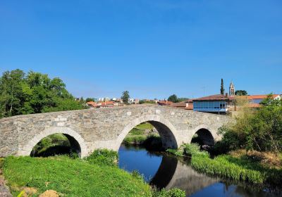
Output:
<instances>
[{"instance_id":1,"label":"dark opening under the smallest, rightmost bridge arch","mask_svg":"<svg viewBox=\"0 0 282 197\"><path fill-rule=\"evenodd\" d=\"M191 143L197 143L201 147L203 146L214 146L214 137L208 129L199 129L192 137Z\"/></svg>"}]
</instances>

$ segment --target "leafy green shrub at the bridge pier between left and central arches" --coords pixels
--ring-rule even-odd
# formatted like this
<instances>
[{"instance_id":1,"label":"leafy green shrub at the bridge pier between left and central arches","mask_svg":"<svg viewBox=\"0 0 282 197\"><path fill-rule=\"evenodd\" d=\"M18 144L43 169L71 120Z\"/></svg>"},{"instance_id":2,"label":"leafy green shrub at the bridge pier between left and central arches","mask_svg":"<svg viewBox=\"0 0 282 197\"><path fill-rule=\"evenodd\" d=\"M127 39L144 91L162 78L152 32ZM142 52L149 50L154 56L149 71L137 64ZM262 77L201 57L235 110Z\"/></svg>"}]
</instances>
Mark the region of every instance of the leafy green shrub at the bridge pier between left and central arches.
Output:
<instances>
[{"instance_id":1,"label":"leafy green shrub at the bridge pier between left and central arches","mask_svg":"<svg viewBox=\"0 0 282 197\"><path fill-rule=\"evenodd\" d=\"M88 156L86 160L91 164L101 166L116 166L118 153L116 153L116 151L109 151L107 149L97 149L90 156Z\"/></svg>"}]
</instances>

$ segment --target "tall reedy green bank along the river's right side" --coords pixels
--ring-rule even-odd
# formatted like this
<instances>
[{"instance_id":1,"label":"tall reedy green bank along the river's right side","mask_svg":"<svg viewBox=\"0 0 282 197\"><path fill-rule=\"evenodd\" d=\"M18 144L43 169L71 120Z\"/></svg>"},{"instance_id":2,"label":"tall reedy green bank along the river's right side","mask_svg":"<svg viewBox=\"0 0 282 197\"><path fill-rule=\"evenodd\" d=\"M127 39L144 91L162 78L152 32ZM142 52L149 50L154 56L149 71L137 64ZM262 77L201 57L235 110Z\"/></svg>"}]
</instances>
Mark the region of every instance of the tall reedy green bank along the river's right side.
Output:
<instances>
[{"instance_id":1,"label":"tall reedy green bank along the river's right side","mask_svg":"<svg viewBox=\"0 0 282 197\"><path fill-rule=\"evenodd\" d=\"M200 151L197 144L185 144L179 150L168 150L178 156L189 155L195 170L255 184L281 184L281 168L265 167L257 160L245 155L219 155L209 158L209 153Z\"/></svg>"}]
</instances>

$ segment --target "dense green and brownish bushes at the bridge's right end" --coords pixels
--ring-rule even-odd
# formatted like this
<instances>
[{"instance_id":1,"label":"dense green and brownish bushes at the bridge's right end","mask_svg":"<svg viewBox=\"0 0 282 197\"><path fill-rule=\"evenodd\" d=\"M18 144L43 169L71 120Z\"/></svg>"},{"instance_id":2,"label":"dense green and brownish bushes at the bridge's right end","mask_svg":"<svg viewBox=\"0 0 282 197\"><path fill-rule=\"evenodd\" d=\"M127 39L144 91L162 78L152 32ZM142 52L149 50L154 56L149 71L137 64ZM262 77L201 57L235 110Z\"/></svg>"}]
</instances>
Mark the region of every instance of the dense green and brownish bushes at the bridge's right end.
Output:
<instances>
[{"instance_id":1,"label":"dense green and brownish bushes at the bridge's right end","mask_svg":"<svg viewBox=\"0 0 282 197\"><path fill-rule=\"evenodd\" d=\"M235 125L223 127L222 142L226 149L246 148L256 151L282 151L282 101L269 95L256 111L246 110Z\"/></svg>"}]
</instances>

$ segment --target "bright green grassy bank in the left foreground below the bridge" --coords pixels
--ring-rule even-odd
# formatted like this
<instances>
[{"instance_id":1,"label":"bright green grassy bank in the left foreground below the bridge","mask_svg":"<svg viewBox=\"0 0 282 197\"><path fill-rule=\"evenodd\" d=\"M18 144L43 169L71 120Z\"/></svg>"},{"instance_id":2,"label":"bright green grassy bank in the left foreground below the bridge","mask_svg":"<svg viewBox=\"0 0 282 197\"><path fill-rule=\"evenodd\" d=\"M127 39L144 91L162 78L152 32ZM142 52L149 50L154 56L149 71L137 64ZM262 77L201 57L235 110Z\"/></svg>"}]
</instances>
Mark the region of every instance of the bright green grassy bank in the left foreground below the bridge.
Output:
<instances>
[{"instance_id":1,"label":"bright green grassy bank in the left foreground below the bridge","mask_svg":"<svg viewBox=\"0 0 282 197\"><path fill-rule=\"evenodd\" d=\"M138 174L113 163L116 153L95 151L85 160L66 156L8 157L2 170L13 196L39 196L47 190L59 196L185 196L183 191L153 191Z\"/></svg>"}]
</instances>

